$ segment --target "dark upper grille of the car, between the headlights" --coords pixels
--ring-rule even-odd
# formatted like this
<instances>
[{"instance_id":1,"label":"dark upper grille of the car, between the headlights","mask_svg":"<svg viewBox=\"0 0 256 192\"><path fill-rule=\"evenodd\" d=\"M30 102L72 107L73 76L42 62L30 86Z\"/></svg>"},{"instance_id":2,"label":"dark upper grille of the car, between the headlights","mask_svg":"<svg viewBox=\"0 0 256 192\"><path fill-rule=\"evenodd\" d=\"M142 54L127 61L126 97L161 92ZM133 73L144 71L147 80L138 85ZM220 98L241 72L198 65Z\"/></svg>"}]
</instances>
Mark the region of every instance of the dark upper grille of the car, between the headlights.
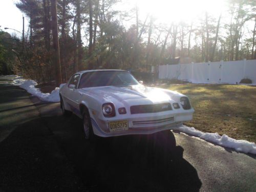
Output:
<instances>
[{"instance_id":1,"label":"dark upper grille of the car, between the headlights","mask_svg":"<svg viewBox=\"0 0 256 192\"><path fill-rule=\"evenodd\" d=\"M172 110L170 103L133 105L130 108L131 114L157 113Z\"/></svg>"}]
</instances>

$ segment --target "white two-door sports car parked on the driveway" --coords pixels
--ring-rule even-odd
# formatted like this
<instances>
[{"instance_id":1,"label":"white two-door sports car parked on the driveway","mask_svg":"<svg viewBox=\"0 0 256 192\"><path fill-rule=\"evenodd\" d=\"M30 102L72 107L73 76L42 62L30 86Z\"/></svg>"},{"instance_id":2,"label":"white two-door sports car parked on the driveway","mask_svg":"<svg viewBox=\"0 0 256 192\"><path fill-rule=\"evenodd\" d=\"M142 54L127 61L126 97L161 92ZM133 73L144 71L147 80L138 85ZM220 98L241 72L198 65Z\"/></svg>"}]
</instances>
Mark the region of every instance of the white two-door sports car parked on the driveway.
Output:
<instances>
[{"instance_id":1,"label":"white two-door sports car parked on the driveway","mask_svg":"<svg viewBox=\"0 0 256 192\"><path fill-rule=\"evenodd\" d=\"M83 119L87 139L152 134L191 120L189 99L176 91L143 86L130 72L89 70L74 74L60 88L64 115Z\"/></svg>"}]
</instances>

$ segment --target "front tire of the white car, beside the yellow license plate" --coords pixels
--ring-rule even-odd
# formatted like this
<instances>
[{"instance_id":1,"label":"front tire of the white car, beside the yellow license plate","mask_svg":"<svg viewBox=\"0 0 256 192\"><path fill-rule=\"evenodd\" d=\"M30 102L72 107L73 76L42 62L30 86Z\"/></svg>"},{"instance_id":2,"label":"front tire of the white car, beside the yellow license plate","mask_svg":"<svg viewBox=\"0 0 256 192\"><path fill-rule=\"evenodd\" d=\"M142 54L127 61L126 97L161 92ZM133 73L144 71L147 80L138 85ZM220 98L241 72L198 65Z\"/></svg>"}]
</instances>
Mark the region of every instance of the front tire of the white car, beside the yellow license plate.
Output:
<instances>
[{"instance_id":1,"label":"front tire of the white car, beside the yellow license plate","mask_svg":"<svg viewBox=\"0 0 256 192\"><path fill-rule=\"evenodd\" d=\"M82 127L83 127L83 133L84 137L87 140L94 141L95 135L93 133L93 127L92 127L92 122L91 122L91 117L88 112L88 110L83 111L82 115Z\"/></svg>"}]
</instances>

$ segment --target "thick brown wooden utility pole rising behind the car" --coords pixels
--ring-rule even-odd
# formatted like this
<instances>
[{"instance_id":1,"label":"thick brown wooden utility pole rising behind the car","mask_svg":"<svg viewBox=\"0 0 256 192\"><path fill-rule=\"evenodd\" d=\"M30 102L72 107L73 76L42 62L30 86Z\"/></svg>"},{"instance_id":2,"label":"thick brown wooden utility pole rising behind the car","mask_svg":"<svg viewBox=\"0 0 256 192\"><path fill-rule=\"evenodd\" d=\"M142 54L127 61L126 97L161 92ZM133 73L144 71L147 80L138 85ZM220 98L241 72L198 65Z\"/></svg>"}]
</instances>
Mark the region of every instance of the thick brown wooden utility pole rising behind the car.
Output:
<instances>
[{"instance_id":1,"label":"thick brown wooden utility pole rising behind the car","mask_svg":"<svg viewBox=\"0 0 256 192\"><path fill-rule=\"evenodd\" d=\"M59 55L59 39L58 39L58 20L57 20L57 5L56 0L51 0L52 4L52 39L54 53L54 65L55 65L55 79L56 87L58 87L62 81L61 67L60 67L60 55Z\"/></svg>"}]
</instances>

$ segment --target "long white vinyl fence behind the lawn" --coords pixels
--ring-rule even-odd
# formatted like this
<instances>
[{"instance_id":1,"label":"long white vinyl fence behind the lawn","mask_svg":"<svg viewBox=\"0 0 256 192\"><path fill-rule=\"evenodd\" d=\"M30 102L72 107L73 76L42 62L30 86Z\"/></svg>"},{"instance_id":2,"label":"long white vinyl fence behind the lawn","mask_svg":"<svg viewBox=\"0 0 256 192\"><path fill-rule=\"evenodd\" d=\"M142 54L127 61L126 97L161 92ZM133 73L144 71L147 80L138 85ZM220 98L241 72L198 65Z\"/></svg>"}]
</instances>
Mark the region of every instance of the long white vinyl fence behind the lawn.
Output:
<instances>
[{"instance_id":1,"label":"long white vinyl fence behind the lawn","mask_svg":"<svg viewBox=\"0 0 256 192\"><path fill-rule=\"evenodd\" d=\"M201 62L159 66L160 79L193 83L236 83L243 78L256 84L256 60Z\"/></svg>"}]
</instances>

